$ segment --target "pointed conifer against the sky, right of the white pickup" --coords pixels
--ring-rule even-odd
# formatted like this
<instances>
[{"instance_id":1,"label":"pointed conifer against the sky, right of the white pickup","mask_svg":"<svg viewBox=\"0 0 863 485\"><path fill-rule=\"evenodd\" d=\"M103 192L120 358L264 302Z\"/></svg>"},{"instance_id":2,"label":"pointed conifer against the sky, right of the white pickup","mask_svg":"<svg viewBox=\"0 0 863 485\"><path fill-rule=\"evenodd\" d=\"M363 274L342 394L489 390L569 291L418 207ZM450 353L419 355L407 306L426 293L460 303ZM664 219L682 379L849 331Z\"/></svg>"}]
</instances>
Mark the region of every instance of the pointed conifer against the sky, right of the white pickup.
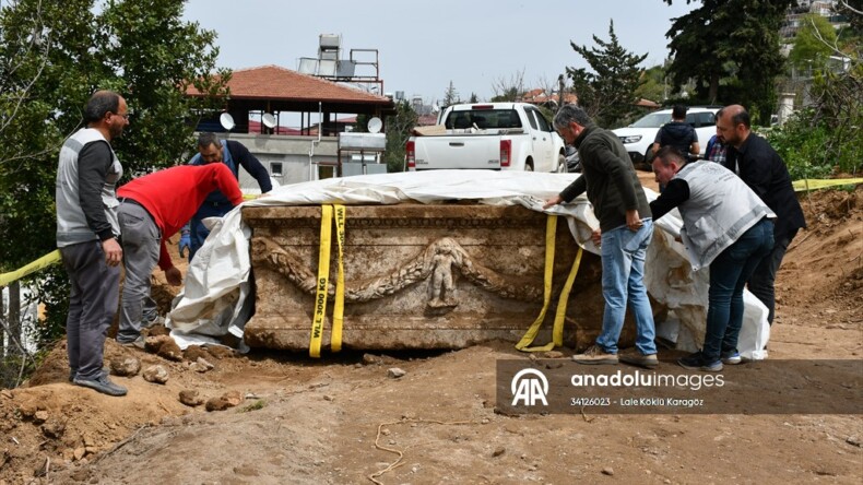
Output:
<instances>
[{"instance_id":1,"label":"pointed conifer against the sky, right of the white pickup","mask_svg":"<svg viewBox=\"0 0 863 485\"><path fill-rule=\"evenodd\" d=\"M642 83L638 64L648 56L630 54L620 46L614 33L614 21L608 23L608 42L604 42L593 36L599 48L569 43L592 72L584 68L566 68L579 104L599 125L606 127L618 123L633 113L638 100L636 90Z\"/></svg>"}]
</instances>

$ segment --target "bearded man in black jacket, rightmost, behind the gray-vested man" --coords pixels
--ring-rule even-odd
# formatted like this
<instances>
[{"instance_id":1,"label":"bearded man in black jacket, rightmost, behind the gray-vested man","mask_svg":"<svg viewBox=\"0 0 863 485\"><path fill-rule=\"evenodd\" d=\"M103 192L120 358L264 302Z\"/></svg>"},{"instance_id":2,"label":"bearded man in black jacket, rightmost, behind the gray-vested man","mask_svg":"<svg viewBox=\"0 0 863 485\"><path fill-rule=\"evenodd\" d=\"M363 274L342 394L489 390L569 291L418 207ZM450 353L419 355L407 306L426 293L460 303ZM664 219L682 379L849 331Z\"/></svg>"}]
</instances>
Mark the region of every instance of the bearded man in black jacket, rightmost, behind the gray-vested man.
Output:
<instances>
[{"instance_id":1,"label":"bearded man in black jacket, rightmost, behind the gray-vested man","mask_svg":"<svg viewBox=\"0 0 863 485\"><path fill-rule=\"evenodd\" d=\"M806 227L785 162L767 140L752 132L749 114L741 105L725 106L717 114L717 134L729 145L723 165L734 171L777 214L775 246L748 281L752 292L768 310L773 323L776 293L773 283L785 250L797 230Z\"/></svg>"}]
</instances>

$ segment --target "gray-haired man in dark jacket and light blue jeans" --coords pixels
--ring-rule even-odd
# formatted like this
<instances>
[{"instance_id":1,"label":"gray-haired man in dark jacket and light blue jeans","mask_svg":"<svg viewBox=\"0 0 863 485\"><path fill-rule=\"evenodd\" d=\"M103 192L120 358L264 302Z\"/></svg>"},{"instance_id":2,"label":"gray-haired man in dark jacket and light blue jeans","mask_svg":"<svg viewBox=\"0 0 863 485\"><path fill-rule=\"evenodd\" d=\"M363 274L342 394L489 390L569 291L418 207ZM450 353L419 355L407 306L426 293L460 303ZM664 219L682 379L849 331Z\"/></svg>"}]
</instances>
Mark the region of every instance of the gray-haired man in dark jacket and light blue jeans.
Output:
<instances>
[{"instance_id":1,"label":"gray-haired man in dark jacket and light blue jeans","mask_svg":"<svg viewBox=\"0 0 863 485\"><path fill-rule=\"evenodd\" d=\"M653 222L645 190L617 135L594 125L583 109L564 106L554 118L554 127L567 144L578 149L582 171L559 196L548 199L545 209L587 191L600 220L593 240L602 250L602 333L595 345L572 359L579 364L618 362L617 340L628 301L636 321L636 348L620 355L619 360L653 368L658 365L655 330L643 282Z\"/></svg>"}]
</instances>

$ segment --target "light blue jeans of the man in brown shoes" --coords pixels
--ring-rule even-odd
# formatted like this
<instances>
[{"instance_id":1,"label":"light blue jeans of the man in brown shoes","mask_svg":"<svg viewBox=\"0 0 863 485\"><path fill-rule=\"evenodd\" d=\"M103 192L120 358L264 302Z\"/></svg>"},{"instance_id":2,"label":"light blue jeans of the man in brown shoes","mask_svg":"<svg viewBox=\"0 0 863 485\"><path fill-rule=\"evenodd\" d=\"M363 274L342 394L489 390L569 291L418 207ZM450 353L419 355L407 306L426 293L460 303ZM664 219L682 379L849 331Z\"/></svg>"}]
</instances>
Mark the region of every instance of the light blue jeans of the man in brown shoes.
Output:
<instances>
[{"instance_id":1,"label":"light blue jeans of the man in brown shoes","mask_svg":"<svg viewBox=\"0 0 863 485\"><path fill-rule=\"evenodd\" d=\"M626 303L636 320L636 348L645 355L655 354L653 310L645 287L645 256L653 237L653 221L642 220L637 233L626 226L602 233L602 296L605 311L602 333L596 344L610 354L617 353L617 339L624 328Z\"/></svg>"}]
</instances>

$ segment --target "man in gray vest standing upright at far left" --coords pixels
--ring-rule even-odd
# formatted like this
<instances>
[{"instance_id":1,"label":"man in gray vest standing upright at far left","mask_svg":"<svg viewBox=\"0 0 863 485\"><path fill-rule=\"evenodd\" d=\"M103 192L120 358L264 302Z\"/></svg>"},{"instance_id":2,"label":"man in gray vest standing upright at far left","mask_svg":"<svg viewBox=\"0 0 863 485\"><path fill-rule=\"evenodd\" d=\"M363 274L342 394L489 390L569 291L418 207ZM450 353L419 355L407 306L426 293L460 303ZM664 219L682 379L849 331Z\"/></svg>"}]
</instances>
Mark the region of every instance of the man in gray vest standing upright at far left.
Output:
<instances>
[{"instance_id":1,"label":"man in gray vest standing upright at far left","mask_svg":"<svg viewBox=\"0 0 863 485\"><path fill-rule=\"evenodd\" d=\"M86 128L63 143L57 166L57 247L69 274L66 320L69 379L126 395L103 371L105 336L117 312L122 249L115 187L122 166L110 146L129 125L126 99L98 91L84 107Z\"/></svg>"}]
</instances>

